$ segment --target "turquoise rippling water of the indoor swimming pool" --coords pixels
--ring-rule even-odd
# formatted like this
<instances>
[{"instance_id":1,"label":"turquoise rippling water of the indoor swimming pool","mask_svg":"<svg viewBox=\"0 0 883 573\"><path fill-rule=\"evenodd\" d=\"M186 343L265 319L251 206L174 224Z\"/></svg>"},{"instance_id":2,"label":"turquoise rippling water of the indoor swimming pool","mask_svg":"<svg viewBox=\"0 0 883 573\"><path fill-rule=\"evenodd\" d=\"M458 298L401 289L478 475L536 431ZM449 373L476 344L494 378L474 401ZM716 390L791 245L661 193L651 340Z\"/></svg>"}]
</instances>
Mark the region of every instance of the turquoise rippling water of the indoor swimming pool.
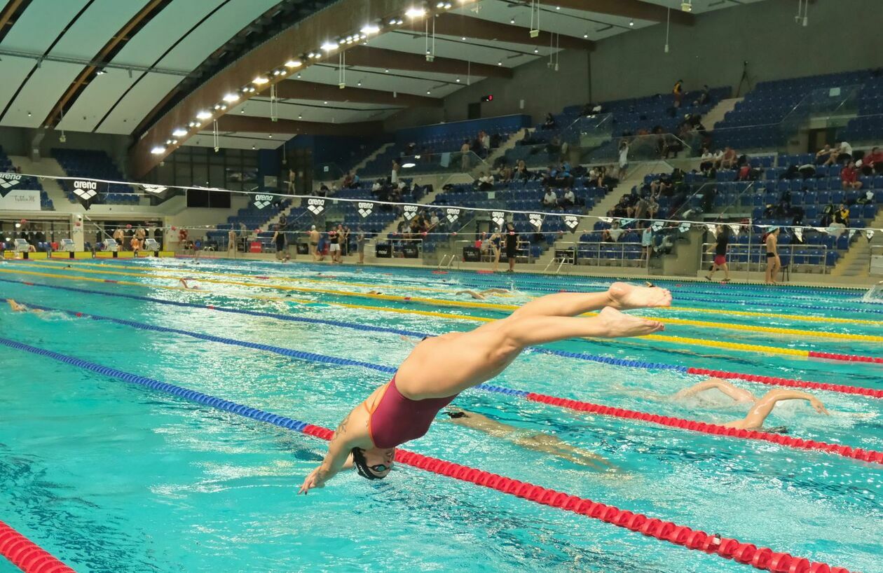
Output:
<instances>
[{"instance_id":1,"label":"turquoise rippling water of the indoor swimming pool","mask_svg":"<svg viewBox=\"0 0 883 573\"><path fill-rule=\"evenodd\" d=\"M198 266L184 260L141 260L103 266L76 263L72 268L59 263L5 263L0 270L4 271L0 273L4 298L25 304L392 367L407 356L412 344L394 333L293 322L272 315L442 333L473 328L477 323L340 304L500 317L502 313L494 309L356 298L345 293L381 290L401 296L464 300L451 290L514 283L516 296L492 302L517 304L549 291L600 290L609 284L600 279L434 275L423 269L320 268L220 260L203 260ZM192 276L205 290L158 288L174 286L177 276ZM274 282L274 278L279 280ZM270 284L339 292L285 291ZM883 306L862 303L858 291L767 290L711 283L663 285L673 290L679 307L785 313L821 320L681 310L642 314L883 336L880 324L822 321L825 317L883 321L879 313ZM312 302L284 300L285 294ZM158 301L263 314L221 313ZM322 426L335 426L346 411L389 378L370 368L306 362L65 313L11 313L4 307L0 320L5 339ZM671 325L665 334L883 355L879 342L688 325ZM550 348L883 388L883 365L877 364L645 340L567 341ZM547 569L661 573L749 569L584 516L411 468L400 467L389 479L376 483L343 475L324 490L298 497L300 482L324 453L323 441L5 346L0 346L0 356L4 365L4 376L0 377L4 406L0 520L78 571ZM699 380L671 370L525 352L494 383L709 422L744 415L745 408L728 404L720 396L686 402L647 396L668 395ZM769 389L750 382L736 384L755 393ZM768 425L788 426L789 434L804 438L883 449L879 399L825 391L816 394L832 416L820 416L805 403L784 403L776 408ZM602 474L449 423L435 424L410 449L854 571L883 570L879 563L883 535L879 465L766 442L589 416L515 396L471 391L456 403L525 430L555 434L606 457L621 471L615 476ZM7 570L13 569L0 560L0 571Z\"/></svg>"}]
</instances>

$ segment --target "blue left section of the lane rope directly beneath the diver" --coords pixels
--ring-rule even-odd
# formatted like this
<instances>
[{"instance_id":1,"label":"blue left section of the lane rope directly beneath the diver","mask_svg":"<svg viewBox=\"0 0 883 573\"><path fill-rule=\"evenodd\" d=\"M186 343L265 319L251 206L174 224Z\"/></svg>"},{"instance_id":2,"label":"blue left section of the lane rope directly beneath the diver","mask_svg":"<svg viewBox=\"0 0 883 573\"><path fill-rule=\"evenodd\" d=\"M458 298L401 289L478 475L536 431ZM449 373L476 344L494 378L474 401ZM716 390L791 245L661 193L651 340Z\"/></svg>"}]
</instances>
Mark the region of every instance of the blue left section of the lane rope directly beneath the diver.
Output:
<instances>
[{"instance_id":1,"label":"blue left section of the lane rope directly beneath the diver","mask_svg":"<svg viewBox=\"0 0 883 573\"><path fill-rule=\"evenodd\" d=\"M146 376L139 376L138 374L127 373L123 372L122 370L117 370L116 368L110 368L109 366L101 366L99 364L95 364L94 362L89 362L88 360L66 356L58 352L47 351L42 348L31 346L30 344L18 343L14 340L8 340L6 338L0 338L0 344L8 346L9 348L16 351L26 351L38 356L52 358L59 362L64 362L64 364L69 364L71 366L76 366L84 370L89 370L94 373L109 376L110 378L116 378L117 380L129 382L130 384L137 384L139 386L144 386L154 390L160 390L161 392L165 392L172 396L184 398L185 400L189 400L190 402L204 404L207 406L211 406L212 408L215 408L217 410L228 411L231 414L236 414L245 418L256 419L260 422L266 422L268 424L279 426L288 430L303 432L304 428L307 426L306 422L298 419L279 416L272 412L246 406L245 404L230 402L230 400L224 400L223 398L203 394L202 392L197 392L196 390L192 390L190 388L183 388L181 386L175 386L174 384L167 384L165 382L147 378Z\"/></svg>"}]
</instances>

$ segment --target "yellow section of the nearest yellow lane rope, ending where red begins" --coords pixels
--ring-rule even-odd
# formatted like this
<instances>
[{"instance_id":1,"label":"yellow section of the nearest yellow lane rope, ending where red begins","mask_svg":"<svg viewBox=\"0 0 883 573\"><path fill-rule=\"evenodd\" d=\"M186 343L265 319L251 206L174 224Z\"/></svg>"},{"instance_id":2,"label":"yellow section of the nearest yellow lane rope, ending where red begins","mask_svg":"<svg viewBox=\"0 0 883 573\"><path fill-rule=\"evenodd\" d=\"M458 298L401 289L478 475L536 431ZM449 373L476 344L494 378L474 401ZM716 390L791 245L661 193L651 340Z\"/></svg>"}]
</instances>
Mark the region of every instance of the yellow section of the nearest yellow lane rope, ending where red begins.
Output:
<instances>
[{"instance_id":1,"label":"yellow section of the nearest yellow lane rope, ending where red begins","mask_svg":"<svg viewBox=\"0 0 883 573\"><path fill-rule=\"evenodd\" d=\"M145 283L132 283L129 281L111 281L108 282L105 279L93 278L93 277L84 277L84 276L67 276L67 275L56 275L50 273L42 273L37 271L26 271L26 270L15 270L15 269L7 269L0 268L0 273L10 273L10 274L22 274L22 275L34 275L34 276L46 276L49 278L58 278L65 281L88 281L92 283L111 283L111 284L124 284L126 286L137 286L144 289L155 289L155 288L164 288L164 289L172 289L172 290L184 290L182 287L170 287L163 285L153 285L153 284L145 284ZM188 292L200 292L200 290L187 290ZM208 294L208 291L204 291ZM223 293L215 293L215 294L223 294ZM287 299L292 300L292 299ZM384 313L401 313L401 314L417 314L422 316L434 316L438 318L450 319L450 320L472 320L472 321L480 321L480 322L490 322L495 319L487 318L487 317L479 317L479 316L470 316L470 315L459 315L459 314L447 314L447 313L434 313L431 311L417 311L411 309L404 308L387 308L381 306L369 306L369 305L348 305L344 303L322 303L328 305L335 306L344 306L347 308L358 308L365 309L371 311L379 311ZM758 344L743 344L743 343L727 343L721 341L709 341L699 338L684 338L681 336L661 336L661 335L647 335L647 336L638 336L638 338L645 338L647 340L654 340L664 343L675 343L675 344L693 344L697 346L707 346L711 348L725 348L733 351L744 351L744 352L762 352L766 354L784 354L789 356L800 356L800 357L808 357L809 351L803 350L794 350L788 348L777 348L773 346L761 346Z\"/></svg>"}]
</instances>

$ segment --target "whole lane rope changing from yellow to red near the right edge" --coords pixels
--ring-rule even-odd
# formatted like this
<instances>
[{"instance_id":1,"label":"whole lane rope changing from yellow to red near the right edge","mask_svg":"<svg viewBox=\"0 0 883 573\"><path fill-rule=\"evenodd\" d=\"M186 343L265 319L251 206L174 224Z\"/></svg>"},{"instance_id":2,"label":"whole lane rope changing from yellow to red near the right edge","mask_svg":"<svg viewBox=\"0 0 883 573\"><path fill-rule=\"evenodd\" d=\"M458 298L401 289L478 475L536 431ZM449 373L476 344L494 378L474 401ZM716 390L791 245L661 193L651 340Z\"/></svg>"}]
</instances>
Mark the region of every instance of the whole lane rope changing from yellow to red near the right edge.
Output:
<instances>
[{"instance_id":1,"label":"whole lane rope changing from yellow to red near the right edge","mask_svg":"<svg viewBox=\"0 0 883 573\"><path fill-rule=\"evenodd\" d=\"M38 271L27 271L27 270L18 270L18 269L0 268L0 273L45 276L45 277L49 277L49 278L58 278L58 279L66 280L66 281L90 281L90 282L94 282L94 283L108 283L109 282L106 279L102 280L102 279L84 277L84 276L55 275L55 274L50 274L50 273L42 273L42 272L38 272ZM154 285L150 285L147 283L130 283L130 282L125 282L125 281L116 281L115 283L125 284L127 286L137 286L137 287L146 288L146 289L154 288ZM245 286L252 286L252 285L246 284ZM166 287L166 288L173 288L173 287ZM175 287L175 288L177 289L177 287ZM286 288L290 289L290 290L305 290L305 289L295 289L293 287L286 287ZM309 290L309 289L306 289L306 290ZM314 291L321 291L319 289L313 289L313 290ZM214 293L209 293L208 291L200 291L200 290L196 290L195 292L200 292L202 294L214 294ZM333 293L336 291L328 291L328 292ZM223 293L221 293L221 294L223 295ZM377 295L377 296L387 297L387 295ZM402 302L411 302L411 301L418 300L417 298L409 298L409 297L399 297L399 298L389 297L388 299L391 299L391 300L401 299ZM433 299L426 299L426 300L433 300ZM380 312L385 312L385 313L411 313L411 314L424 314L424 315L428 314L428 315L432 315L432 316L440 316L440 317L449 318L449 319L453 319L453 320L484 320L484 321L494 320L491 318L475 317L475 316L471 316L471 315L452 315L452 314L443 314L443 313L432 313L432 312L428 312L428 311L416 311L416 310L412 311L409 309L401 309L401 308L385 308L385 307L367 306L367 305L347 305L347 304L335 303L335 302L326 302L323 304L346 306L349 308L365 308L365 309L370 309L370 310L380 311ZM483 304L483 303L469 303L469 304L479 305L479 304ZM774 347L774 346L762 346L759 344L725 343L725 342L712 341L712 340L706 340L706 339L700 339L700 338L685 338L685 337L681 337L681 336L645 335L645 336L636 336L635 339L653 340L653 341L662 342L662 343L688 344L688 345L693 345L693 346L707 346L710 348L726 348L728 350L743 351L743 352L781 354L781 355L796 356L796 357L801 357L801 358L808 358L808 357L812 356L813 358L826 358L826 359L840 360L840 361L846 361L846 362L867 362L867 363L883 364L883 358L878 358L878 357L857 356L857 355L850 355L850 354L840 354L840 353L834 353L834 352L819 352L819 351L815 351L814 354L811 354L810 353L811 351L804 351L804 350L778 348L778 347Z\"/></svg>"}]
</instances>

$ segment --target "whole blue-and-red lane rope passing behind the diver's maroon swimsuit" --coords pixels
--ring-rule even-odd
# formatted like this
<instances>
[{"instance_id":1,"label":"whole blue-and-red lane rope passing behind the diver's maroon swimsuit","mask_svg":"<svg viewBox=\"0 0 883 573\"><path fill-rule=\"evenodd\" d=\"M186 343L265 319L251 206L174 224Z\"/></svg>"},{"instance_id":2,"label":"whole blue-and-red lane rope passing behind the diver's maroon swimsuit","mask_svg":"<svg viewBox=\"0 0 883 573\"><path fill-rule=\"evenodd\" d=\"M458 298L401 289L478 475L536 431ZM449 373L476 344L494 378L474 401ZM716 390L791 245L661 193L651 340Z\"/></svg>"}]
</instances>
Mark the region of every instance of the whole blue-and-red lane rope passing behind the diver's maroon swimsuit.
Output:
<instances>
[{"instance_id":1,"label":"whole blue-and-red lane rope passing behind the diver's maroon swimsuit","mask_svg":"<svg viewBox=\"0 0 883 573\"><path fill-rule=\"evenodd\" d=\"M364 368L369 368L372 370L376 370L382 373L394 374L396 373L396 368L392 366L383 366L379 364L374 364L371 362L364 362L361 360L353 360L351 358L338 358L333 356L327 356L324 354L318 354L315 352L306 352L306 351L298 351L289 348L282 348L280 346L274 346L271 344L263 344L263 343L251 343L242 340L236 340L233 338L227 338L224 336L213 336L206 335L199 332L192 332L190 330L182 330L179 328L169 328L169 327L161 327L153 324L147 324L144 322L137 322L135 320L123 320L123 319L115 319L107 316L99 316L95 314L87 314L87 313L78 313L74 311L67 311L63 309L51 308L49 306L41 306L41 305L33 305L34 308L39 308L45 311L56 311L61 313L69 313L73 316L77 317L85 317L92 320L102 320L107 322L114 322L116 324L121 324L131 328L139 328L141 330L150 330L153 332L167 332L170 334L183 335L183 336L191 336L192 338L197 338L200 340L205 340L213 343L222 343L230 346L240 346L243 348L247 348L250 350L256 351L267 351L272 352L274 354L278 354L281 356L289 357L289 358L297 358L300 360L306 360L310 362L317 362L321 364L334 364L339 366L361 366ZM825 441L815 441L815 440L804 440L803 438L798 438L796 436L791 435L782 435L782 434L772 434L769 432L763 432L760 430L737 430L735 428L728 428L725 426L721 426L719 424L700 422L698 420L691 420L686 418L676 418L673 416L661 416L659 414L651 414L643 411L635 411L624 408L615 408L612 406L605 406L603 404L585 402L582 400L570 400L569 398L562 398L560 396L547 396L543 394L537 394L534 392L527 392L525 390L517 390L515 388L506 388L503 386L496 386L492 384L479 384L475 386L479 390L484 390L486 392L495 392L499 394L506 394L509 396L517 396L520 398L525 398L526 400L530 400L532 402L546 403L553 406L560 406L562 408L568 408L570 410L576 411L585 411L591 414L598 414L601 416L609 416L613 418L623 418L623 419L636 419L643 422L651 422L653 424L658 424L660 426L669 426L675 427L685 430L691 430L694 432L698 432L701 434L712 434L712 435L724 435L728 437L742 438L745 440L758 440L758 441L768 441L772 443L779 444L781 446L786 446L789 448L795 449L817 449L819 451L825 451L831 454L837 454L844 457L851 457L853 459L857 459L864 462L872 462L877 464L883 464L883 452L878 452L872 449L861 449L856 448L853 449L849 446L843 446L841 444L831 444Z\"/></svg>"}]
</instances>

